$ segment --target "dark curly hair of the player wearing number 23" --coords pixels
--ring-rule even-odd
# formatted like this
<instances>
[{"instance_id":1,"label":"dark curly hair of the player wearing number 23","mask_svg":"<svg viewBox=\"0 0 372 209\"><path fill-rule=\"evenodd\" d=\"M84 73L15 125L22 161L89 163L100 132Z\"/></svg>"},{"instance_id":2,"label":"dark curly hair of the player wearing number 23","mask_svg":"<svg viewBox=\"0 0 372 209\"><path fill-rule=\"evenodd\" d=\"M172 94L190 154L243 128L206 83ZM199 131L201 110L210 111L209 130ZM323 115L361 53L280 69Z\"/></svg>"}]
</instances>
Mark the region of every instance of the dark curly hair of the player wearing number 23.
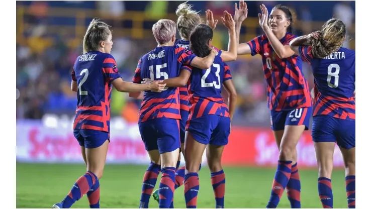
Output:
<instances>
[{"instance_id":1,"label":"dark curly hair of the player wearing number 23","mask_svg":"<svg viewBox=\"0 0 372 209\"><path fill-rule=\"evenodd\" d=\"M213 38L213 30L206 24L198 25L190 36L190 49L198 57L206 57L211 52L208 41Z\"/></svg>"}]
</instances>

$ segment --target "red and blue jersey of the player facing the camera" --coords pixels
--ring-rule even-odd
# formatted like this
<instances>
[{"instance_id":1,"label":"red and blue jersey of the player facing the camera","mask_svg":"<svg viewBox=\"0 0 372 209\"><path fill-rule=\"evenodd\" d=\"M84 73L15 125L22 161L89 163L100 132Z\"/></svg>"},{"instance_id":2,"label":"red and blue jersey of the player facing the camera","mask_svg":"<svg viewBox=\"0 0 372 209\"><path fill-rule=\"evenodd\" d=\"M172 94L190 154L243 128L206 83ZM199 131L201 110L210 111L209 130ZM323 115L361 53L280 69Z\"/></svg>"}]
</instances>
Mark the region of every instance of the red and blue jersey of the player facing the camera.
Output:
<instances>
[{"instance_id":1,"label":"red and blue jersey of the player facing the camera","mask_svg":"<svg viewBox=\"0 0 372 209\"><path fill-rule=\"evenodd\" d=\"M283 45L288 45L294 38L295 35L287 33L280 41ZM247 44L252 56L262 56L270 110L287 111L312 106L309 84L302 72L302 60L299 56L279 58L266 35L258 36Z\"/></svg>"}]
</instances>

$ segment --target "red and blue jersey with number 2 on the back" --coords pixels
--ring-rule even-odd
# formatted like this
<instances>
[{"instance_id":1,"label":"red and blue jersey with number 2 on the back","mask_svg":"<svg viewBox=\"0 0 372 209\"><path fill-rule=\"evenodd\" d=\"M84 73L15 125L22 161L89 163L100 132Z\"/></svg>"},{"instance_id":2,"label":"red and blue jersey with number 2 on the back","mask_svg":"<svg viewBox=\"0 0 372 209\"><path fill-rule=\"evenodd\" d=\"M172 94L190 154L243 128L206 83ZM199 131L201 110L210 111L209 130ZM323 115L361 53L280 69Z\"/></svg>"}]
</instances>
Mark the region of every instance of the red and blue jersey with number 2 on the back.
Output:
<instances>
[{"instance_id":1,"label":"red and blue jersey with number 2 on the back","mask_svg":"<svg viewBox=\"0 0 372 209\"><path fill-rule=\"evenodd\" d=\"M110 54L90 51L77 57L71 73L78 86L74 129L110 132L111 82L120 77Z\"/></svg>"}]
</instances>

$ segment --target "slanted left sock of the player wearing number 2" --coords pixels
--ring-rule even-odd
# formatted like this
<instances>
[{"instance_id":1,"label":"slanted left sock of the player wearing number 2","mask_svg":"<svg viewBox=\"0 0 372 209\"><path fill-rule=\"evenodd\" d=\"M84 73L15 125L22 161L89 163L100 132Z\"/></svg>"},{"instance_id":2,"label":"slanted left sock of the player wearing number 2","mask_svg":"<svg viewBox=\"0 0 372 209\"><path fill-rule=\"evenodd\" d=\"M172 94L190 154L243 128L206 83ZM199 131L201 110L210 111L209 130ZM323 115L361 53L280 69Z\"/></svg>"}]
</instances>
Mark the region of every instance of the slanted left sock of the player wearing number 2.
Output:
<instances>
[{"instance_id":1,"label":"slanted left sock of the player wearing number 2","mask_svg":"<svg viewBox=\"0 0 372 209\"><path fill-rule=\"evenodd\" d=\"M79 200L89 191L92 185L96 184L97 180L97 176L89 171L80 176L72 186L70 192L68 192L67 196L63 199L62 207L70 208L75 201Z\"/></svg>"}]
</instances>

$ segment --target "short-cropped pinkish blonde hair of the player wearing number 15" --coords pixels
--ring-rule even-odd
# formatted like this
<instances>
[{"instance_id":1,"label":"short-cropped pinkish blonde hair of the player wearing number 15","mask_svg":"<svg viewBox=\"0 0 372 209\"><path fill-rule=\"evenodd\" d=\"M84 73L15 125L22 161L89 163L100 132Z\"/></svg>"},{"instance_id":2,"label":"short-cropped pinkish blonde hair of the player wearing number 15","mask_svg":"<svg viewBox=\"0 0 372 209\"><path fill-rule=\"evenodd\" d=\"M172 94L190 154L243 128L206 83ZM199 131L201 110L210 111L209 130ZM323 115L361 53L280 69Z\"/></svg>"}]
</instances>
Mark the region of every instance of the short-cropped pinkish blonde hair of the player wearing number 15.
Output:
<instances>
[{"instance_id":1,"label":"short-cropped pinkish blonde hair of the player wearing number 15","mask_svg":"<svg viewBox=\"0 0 372 209\"><path fill-rule=\"evenodd\" d=\"M161 19L152 26L152 33L158 44L167 43L176 33L176 25L172 20Z\"/></svg>"}]
</instances>

